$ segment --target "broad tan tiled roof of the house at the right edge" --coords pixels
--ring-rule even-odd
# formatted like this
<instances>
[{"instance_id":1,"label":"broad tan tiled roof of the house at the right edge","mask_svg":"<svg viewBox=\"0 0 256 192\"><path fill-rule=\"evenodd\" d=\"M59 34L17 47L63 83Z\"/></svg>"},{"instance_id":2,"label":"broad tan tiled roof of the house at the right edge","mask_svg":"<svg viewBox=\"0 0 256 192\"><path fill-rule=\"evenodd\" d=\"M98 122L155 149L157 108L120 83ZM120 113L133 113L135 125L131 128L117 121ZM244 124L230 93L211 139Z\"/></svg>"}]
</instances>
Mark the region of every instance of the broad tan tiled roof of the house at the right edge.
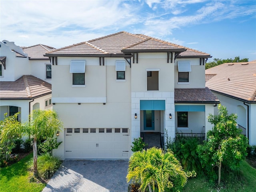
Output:
<instances>
[{"instance_id":1,"label":"broad tan tiled roof of the house at the right edge","mask_svg":"<svg viewBox=\"0 0 256 192\"><path fill-rule=\"evenodd\" d=\"M224 63L205 71L216 74L206 81L210 90L248 102L256 102L256 60Z\"/></svg>"}]
</instances>

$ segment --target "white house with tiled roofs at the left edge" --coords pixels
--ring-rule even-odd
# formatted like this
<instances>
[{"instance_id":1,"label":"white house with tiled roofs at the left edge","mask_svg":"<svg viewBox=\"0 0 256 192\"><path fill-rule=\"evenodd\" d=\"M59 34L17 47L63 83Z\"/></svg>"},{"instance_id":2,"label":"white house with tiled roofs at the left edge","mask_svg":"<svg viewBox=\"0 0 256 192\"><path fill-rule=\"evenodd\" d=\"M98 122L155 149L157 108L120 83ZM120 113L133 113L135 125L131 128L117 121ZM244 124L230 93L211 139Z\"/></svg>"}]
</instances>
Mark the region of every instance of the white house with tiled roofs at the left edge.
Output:
<instances>
[{"instance_id":1,"label":"white house with tiled roofs at the left edge","mask_svg":"<svg viewBox=\"0 0 256 192\"><path fill-rule=\"evenodd\" d=\"M4 113L20 112L19 121L28 120L37 108L52 108L51 64L43 55L52 47L36 45L20 48L14 42L0 42L0 120Z\"/></svg>"}]
</instances>

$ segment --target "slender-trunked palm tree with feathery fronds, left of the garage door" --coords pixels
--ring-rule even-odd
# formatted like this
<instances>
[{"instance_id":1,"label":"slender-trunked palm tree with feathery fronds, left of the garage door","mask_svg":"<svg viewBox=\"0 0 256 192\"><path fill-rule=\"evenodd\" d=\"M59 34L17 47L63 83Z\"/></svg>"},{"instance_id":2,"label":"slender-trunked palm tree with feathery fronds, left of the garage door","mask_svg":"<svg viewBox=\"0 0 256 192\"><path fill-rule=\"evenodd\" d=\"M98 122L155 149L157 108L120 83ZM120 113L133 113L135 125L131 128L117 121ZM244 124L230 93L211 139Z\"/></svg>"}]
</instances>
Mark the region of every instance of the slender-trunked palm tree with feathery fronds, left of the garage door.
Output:
<instances>
[{"instance_id":1,"label":"slender-trunked palm tree with feathery fronds, left of the garage door","mask_svg":"<svg viewBox=\"0 0 256 192\"><path fill-rule=\"evenodd\" d=\"M62 122L58 120L58 115L54 110L33 110L29 115L29 121L22 124L22 126L8 126L3 129L1 133L1 142L13 135L20 133L24 136L29 136L33 139L33 163L34 176L37 176L37 145L38 140L53 137L57 131L62 128Z\"/></svg>"}]
</instances>

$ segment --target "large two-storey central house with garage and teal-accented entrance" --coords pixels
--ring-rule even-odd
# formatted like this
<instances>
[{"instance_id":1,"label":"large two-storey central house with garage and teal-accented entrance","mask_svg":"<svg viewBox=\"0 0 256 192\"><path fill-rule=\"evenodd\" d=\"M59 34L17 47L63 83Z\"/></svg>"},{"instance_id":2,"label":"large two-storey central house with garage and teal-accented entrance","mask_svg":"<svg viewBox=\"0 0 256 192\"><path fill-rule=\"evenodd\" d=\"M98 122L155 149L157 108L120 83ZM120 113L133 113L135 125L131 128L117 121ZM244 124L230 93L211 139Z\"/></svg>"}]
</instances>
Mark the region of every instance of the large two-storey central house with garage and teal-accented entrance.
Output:
<instances>
[{"instance_id":1,"label":"large two-storey central house with garage and teal-accented entrance","mask_svg":"<svg viewBox=\"0 0 256 192\"><path fill-rule=\"evenodd\" d=\"M65 158L128 159L134 138L203 134L219 100L205 87L210 54L118 32L45 54L52 61L53 109L64 123ZM160 134L159 134L160 135Z\"/></svg>"}]
</instances>

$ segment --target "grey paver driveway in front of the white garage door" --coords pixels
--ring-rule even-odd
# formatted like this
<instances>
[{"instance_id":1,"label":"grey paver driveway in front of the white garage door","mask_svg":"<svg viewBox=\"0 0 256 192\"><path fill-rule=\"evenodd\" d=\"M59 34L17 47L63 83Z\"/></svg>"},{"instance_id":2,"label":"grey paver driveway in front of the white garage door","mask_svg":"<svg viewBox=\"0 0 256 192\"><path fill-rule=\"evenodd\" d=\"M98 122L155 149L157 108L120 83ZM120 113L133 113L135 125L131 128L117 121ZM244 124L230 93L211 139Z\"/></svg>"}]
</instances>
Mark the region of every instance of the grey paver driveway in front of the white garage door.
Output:
<instances>
[{"instance_id":1,"label":"grey paver driveway in front of the white garage door","mask_svg":"<svg viewBox=\"0 0 256 192\"><path fill-rule=\"evenodd\" d=\"M127 192L128 160L65 160L42 192Z\"/></svg>"}]
</instances>

